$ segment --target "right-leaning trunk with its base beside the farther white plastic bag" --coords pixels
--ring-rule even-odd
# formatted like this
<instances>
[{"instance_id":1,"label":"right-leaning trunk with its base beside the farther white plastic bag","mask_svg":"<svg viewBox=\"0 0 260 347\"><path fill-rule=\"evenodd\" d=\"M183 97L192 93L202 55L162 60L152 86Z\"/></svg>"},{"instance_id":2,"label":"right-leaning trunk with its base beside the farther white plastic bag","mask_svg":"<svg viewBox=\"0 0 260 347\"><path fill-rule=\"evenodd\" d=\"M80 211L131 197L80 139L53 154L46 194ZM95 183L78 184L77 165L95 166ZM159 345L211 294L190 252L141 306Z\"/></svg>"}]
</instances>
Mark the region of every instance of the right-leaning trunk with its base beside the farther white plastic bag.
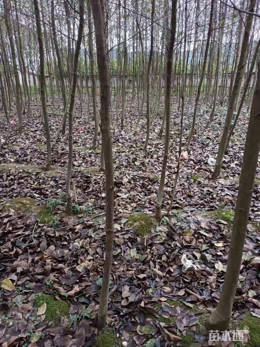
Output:
<instances>
[{"instance_id":1,"label":"right-leaning trunk with its base beside the farther white plastic bag","mask_svg":"<svg viewBox=\"0 0 260 347\"><path fill-rule=\"evenodd\" d=\"M255 4L255 0L250 0L249 11L252 13L254 12L254 4ZM223 160L223 156L225 153L225 148L226 148L226 144L227 144L227 138L228 138L231 120L233 117L234 104L236 101L237 92L239 90L240 80L242 78L243 71L244 71L245 56L246 56L246 51L248 49L252 20L253 20L253 15L249 15L246 18L246 26L245 26L245 32L244 32L244 37L243 37L243 42L242 42L242 49L241 49L241 54L240 54L240 59L239 59L239 65L237 67L237 73L236 73L236 77L235 77L234 87L233 87L232 94L230 96L229 103L228 103L227 116L226 116L225 125L224 125L224 129L223 129L223 133L222 133L222 138L221 138L221 141L220 141L220 144L218 147L218 155L217 155L217 160L215 163L214 172L212 174L212 178L218 177L220 174L220 171L221 171L222 160Z\"/></svg>"}]
</instances>

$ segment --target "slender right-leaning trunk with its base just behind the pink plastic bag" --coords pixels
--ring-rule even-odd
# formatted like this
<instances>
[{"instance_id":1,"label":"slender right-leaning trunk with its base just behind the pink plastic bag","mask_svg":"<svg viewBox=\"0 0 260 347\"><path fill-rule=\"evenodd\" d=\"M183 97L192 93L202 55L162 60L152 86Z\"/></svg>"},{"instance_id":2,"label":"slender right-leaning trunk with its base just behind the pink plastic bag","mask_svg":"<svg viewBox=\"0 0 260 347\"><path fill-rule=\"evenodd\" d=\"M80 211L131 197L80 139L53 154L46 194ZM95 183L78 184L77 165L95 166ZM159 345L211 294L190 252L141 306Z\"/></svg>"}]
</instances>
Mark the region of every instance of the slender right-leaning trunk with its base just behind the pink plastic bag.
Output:
<instances>
[{"instance_id":1,"label":"slender right-leaning trunk with its base just behind the pink plastic bag","mask_svg":"<svg viewBox=\"0 0 260 347\"><path fill-rule=\"evenodd\" d=\"M191 129L190 129L188 143L187 143L187 152L190 151L190 143L191 143L191 140L192 140L192 136L193 136L195 125L196 125L196 121L197 121L197 109L198 109L198 104L199 104L199 99L200 99L201 86L202 86L202 83L204 81L205 68L206 68L207 57L208 57L208 50L209 50L209 41L210 41L210 36L211 36L211 32L212 32L213 11L214 11L214 0L211 0L207 43L206 43L204 60L203 60L203 65L202 65L202 71L201 71L201 75L200 75L200 81L199 81L199 85L198 85L197 96L196 96L196 101L195 101L195 106L194 106L194 111L193 111L192 126L191 126Z\"/></svg>"}]
</instances>

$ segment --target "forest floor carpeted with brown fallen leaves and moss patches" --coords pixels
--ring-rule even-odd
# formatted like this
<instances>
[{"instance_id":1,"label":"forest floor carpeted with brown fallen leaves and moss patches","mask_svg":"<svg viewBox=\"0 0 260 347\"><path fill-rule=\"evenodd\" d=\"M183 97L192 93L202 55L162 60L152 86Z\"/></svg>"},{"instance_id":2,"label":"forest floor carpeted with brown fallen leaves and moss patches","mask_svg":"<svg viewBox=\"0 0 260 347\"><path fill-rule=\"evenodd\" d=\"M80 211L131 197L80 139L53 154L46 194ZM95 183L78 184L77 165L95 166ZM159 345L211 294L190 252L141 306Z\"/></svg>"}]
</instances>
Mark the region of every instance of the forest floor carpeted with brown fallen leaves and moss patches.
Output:
<instances>
[{"instance_id":1,"label":"forest floor carpeted with brown fallen leaves and moss patches","mask_svg":"<svg viewBox=\"0 0 260 347\"><path fill-rule=\"evenodd\" d=\"M145 114L134 137L137 108L127 108L123 130L112 113L115 243L107 327L102 333L94 320L104 265L105 176L99 173L100 147L89 149L94 130L91 112L83 103L81 117L78 101L75 109L72 180L80 208L75 207L73 216L64 213L67 133L58 138L49 172L43 171L46 142L40 105L34 104L31 118L24 118L21 136L16 133L17 117L11 116L15 124L8 145L2 140L1 345L240 346L233 341L210 342L203 322L217 305L225 276L246 109L224 157L221 176L213 180L213 167L207 161L216 156L226 108L219 108L213 124L205 129L209 113L206 106L200 107L191 151L181 161L171 226L165 218L157 225L153 217L164 150L164 138L157 137L162 114L151 121L144 153ZM53 138L62 110L48 106L48 111ZM192 110L184 119L184 151L191 117ZM4 118L2 113L2 137L7 130ZM179 129L180 116L173 111L163 209L174 185ZM243 342L253 347L260 346L259 193L260 162L231 324L232 331L249 327Z\"/></svg>"}]
</instances>

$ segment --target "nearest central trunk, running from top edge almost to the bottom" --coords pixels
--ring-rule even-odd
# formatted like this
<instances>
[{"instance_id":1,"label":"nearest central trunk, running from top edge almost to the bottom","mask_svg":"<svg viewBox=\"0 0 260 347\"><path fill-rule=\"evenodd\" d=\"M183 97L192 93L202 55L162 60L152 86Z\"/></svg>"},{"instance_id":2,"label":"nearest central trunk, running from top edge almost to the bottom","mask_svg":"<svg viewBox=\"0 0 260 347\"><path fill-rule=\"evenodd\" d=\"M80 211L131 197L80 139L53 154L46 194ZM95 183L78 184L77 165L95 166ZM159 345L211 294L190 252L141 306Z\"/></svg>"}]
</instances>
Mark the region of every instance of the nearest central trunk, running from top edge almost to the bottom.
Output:
<instances>
[{"instance_id":1,"label":"nearest central trunk, running from top edge almost to the bottom","mask_svg":"<svg viewBox=\"0 0 260 347\"><path fill-rule=\"evenodd\" d=\"M102 0L101 0L102 1ZM103 2L103 1L102 1ZM109 69L106 60L106 42L104 36L105 18L102 14L103 3L95 0L92 3L95 34L96 34L96 50L97 65L100 78L100 117L102 132L102 147L104 148L105 157L105 174L106 174L106 255L103 271L102 288L99 300L99 310L97 318L97 327L103 328L106 324L109 281L112 267L112 253L114 241L114 172L113 172L113 154L110 130L110 86L109 86ZM104 5L103 5L104 6Z\"/></svg>"}]
</instances>

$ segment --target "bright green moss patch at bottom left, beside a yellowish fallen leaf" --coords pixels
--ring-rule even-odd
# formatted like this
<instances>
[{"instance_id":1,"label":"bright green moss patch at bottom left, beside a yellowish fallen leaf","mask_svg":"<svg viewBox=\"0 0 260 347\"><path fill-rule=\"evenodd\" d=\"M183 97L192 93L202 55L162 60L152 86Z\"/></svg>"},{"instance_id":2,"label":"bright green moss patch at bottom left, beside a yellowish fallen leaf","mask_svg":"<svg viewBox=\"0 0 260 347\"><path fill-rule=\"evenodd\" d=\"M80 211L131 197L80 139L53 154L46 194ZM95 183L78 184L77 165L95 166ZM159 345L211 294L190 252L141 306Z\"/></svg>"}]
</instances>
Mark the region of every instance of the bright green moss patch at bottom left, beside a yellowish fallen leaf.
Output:
<instances>
[{"instance_id":1,"label":"bright green moss patch at bottom left, beside a yellowish fallen leaf","mask_svg":"<svg viewBox=\"0 0 260 347\"><path fill-rule=\"evenodd\" d=\"M69 304L62 300L56 300L52 295L41 294L36 296L34 303L37 308L46 303L47 307L44 314L47 321L58 323L61 317L69 315Z\"/></svg>"}]
</instances>

